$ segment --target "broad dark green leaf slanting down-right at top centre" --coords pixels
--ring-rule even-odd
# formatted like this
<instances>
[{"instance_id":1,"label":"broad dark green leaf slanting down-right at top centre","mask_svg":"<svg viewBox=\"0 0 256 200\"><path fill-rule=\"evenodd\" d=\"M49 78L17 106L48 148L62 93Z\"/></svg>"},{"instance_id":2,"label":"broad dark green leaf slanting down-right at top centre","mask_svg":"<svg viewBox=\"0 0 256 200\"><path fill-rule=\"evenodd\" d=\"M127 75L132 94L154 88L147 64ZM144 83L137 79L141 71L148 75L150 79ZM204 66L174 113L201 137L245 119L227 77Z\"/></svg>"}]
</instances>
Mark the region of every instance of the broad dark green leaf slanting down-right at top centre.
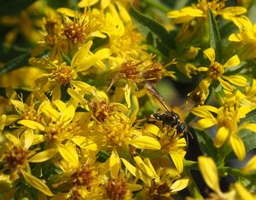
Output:
<instances>
[{"instance_id":1,"label":"broad dark green leaf slanting down-right at top centre","mask_svg":"<svg viewBox=\"0 0 256 200\"><path fill-rule=\"evenodd\" d=\"M147 38L148 43L160 50L161 53L169 54L168 44L171 43L171 37L166 28L147 15L142 14L133 6L131 6L130 14L137 24L137 29Z\"/></svg>"}]
</instances>

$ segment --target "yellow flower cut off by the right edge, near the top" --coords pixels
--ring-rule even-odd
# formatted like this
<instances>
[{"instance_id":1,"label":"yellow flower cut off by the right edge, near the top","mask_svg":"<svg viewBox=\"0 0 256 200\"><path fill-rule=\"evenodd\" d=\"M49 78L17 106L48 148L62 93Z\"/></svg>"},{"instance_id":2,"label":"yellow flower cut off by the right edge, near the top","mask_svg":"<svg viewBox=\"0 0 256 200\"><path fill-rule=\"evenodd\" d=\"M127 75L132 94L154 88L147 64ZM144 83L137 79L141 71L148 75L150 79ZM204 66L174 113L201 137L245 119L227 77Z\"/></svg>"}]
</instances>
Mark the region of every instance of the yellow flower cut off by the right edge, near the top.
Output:
<instances>
[{"instance_id":1,"label":"yellow flower cut off by the right edge, near the top","mask_svg":"<svg viewBox=\"0 0 256 200\"><path fill-rule=\"evenodd\" d=\"M250 60L256 57L256 24L246 16L232 19L239 28L239 33L230 35L229 40L234 42L229 48L235 49L241 58Z\"/></svg>"}]
</instances>

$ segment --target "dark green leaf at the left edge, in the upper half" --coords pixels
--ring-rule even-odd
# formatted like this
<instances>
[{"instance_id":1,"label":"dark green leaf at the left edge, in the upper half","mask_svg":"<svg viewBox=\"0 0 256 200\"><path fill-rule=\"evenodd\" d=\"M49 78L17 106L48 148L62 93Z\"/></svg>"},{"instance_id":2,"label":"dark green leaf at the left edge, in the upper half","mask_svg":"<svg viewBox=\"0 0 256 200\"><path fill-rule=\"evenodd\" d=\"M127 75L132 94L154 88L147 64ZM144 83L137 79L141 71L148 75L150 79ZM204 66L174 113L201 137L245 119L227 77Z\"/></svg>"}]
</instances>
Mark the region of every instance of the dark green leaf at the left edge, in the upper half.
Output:
<instances>
[{"instance_id":1,"label":"dark green leaf at the left edge, in the upper half","mask_svg":"<svg viewBox=\"0 0 256 200\"><path fill-rule=\"evenodd\" d=\"M0 69L0 76L15 69L19 69L21 66L27 64L27 60L30 58L30 52L20 54L12 60L6 62L3 68Z\"/></svg>"}]
</instances>

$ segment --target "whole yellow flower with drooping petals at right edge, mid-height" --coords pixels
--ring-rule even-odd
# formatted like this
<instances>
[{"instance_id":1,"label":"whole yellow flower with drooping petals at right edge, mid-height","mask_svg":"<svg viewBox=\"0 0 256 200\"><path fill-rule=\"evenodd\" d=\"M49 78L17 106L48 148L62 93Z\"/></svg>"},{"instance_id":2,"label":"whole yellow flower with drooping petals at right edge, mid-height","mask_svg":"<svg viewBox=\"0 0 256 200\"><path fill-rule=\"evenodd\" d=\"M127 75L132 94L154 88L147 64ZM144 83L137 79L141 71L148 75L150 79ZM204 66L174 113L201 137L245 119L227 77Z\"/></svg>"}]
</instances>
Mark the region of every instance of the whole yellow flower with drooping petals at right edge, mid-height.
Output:
<instances>
[{"instance_id":1,"label":"whole yellow flower with drooping petals at right edge, mid-height","mask_svg":"<svg viewBox=\"0 0 256 200\"><path fill-rule=\"evenodd\" d=\"M237 95L227 96L224 106L219 108L213 106L199 106L192 110L195 116L201 117L195 124L196 129L207 129L217 126L217 134L214 139L214 146L223 146L225 142L231 145L233 151L240 160L246 156L245 146L237 135L241 129L256 131L256 124L243 123L239 125L241 118L247 114L247 107L239 106ZM217 115L214 117L212 112Z\"/></svg>"}]
</instances>

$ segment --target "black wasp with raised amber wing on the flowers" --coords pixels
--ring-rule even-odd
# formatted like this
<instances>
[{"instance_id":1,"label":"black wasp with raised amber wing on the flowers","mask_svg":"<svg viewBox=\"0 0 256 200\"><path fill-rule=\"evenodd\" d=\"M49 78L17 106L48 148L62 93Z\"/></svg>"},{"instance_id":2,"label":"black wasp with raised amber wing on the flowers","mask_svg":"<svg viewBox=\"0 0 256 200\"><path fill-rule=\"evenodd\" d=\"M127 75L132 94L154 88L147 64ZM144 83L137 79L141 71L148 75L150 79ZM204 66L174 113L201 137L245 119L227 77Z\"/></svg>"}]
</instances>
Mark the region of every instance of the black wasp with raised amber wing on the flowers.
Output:
<instances>
[{"instance_id":1,"label":"black wasp with raised amber wing on the flowers","mask_svg":"<svg viewBox=\"0 0 256 200\"><path fill-rule=\"evenodd\" d=\"M157 112L150 116L151 119L161 121L163 125L168 125L172 129L176 129L177 134L185 134L189 131L186 123L182 122L176 112L167 106L166 101L162 96L157 92L154 86L151 83L145 83L148 92L154 96L154 99L157 100L160 105L166 110L163 113Z\"/></svg>"}]
</instances>

